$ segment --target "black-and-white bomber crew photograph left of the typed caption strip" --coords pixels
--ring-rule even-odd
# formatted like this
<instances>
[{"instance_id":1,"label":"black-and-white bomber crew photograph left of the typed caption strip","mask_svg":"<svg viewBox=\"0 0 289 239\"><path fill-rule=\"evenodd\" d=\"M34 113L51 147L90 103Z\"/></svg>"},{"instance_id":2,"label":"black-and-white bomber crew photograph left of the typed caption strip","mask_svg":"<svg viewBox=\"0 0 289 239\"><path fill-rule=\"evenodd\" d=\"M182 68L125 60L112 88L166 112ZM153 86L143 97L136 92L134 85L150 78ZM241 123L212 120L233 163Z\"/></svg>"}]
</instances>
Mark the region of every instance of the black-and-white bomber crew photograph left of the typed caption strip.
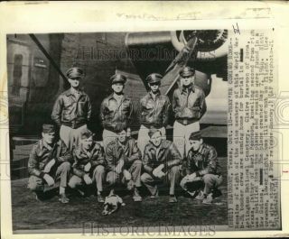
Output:
<instances>
[{"instance_id":1,"label":"black-and-white bomber crew photograph left of the typed caption strip","mask_svg":"<svg viewBox=\"0 0 289 239\"><path fill-rule=\"evenodd\" d=\"M227 41L7 34L14 233L228 225Z\"/></svg>"}]
</instances>

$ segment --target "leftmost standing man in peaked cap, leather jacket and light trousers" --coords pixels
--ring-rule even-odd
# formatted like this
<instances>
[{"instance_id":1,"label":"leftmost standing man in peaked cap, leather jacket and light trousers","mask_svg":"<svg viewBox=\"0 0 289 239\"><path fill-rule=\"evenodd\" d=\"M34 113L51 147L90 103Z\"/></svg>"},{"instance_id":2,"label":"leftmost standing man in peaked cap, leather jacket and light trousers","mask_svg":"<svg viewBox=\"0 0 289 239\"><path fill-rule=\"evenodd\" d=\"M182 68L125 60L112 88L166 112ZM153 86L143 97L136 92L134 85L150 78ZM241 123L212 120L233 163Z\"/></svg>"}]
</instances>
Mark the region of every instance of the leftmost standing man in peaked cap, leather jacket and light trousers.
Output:
<instances>
[{"instance_id":1,"label":"leftmost standing man in peaked cap, leather jacket and light trousers","mask_svg":"<svg viewBox=\"0 0 289 239\"><path fill-rule=\"evenodd\" d=\"M73 145L79 144L81 132L87 129L91 103L89 96L79 88L79 81L84 77L83 70L70 68L66 76L71 87L57 98L51 118L61 128L61 140L71 151Z\"/></svg>"}]
</instances>

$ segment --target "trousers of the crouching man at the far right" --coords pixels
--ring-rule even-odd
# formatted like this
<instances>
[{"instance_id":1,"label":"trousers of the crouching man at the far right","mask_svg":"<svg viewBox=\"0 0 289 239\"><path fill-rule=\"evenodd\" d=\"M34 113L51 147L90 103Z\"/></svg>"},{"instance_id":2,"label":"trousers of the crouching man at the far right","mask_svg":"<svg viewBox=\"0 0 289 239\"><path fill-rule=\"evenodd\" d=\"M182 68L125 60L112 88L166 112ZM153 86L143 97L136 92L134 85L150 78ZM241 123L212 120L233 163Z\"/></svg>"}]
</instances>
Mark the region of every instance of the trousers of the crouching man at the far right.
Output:
<instances>
[{"instance_id":1,"label":"trousers of the crouching man at the far right","mask_svg":"<svg viewBox=\"0 0 289 239\"><path fill-rule=\"evenodd\" d=\"M221 175L208 173L202 177L197 177L192 181L187 180L185 176L182 179L180 185L184 189L192 188L191 190L200 189L204 185L204 193L208 195L211 193L212 189L217 189L219 185L222 183L222 181L223 181L223 177Z\"/></svg>"}]
</instances>

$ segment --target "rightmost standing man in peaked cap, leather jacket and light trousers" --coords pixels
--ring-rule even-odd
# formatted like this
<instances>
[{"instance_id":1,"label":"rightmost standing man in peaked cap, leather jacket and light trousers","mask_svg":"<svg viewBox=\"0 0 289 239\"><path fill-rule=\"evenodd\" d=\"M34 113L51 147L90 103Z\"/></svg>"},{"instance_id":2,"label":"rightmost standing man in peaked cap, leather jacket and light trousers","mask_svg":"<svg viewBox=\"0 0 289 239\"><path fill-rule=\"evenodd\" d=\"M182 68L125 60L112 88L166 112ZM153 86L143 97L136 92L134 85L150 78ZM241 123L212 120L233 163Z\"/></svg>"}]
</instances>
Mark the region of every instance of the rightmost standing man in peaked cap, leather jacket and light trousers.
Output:
<instances>
[{"instance_id":1,"label":"rightmost standing man in peaked cap, leather jacket and light trousers","mask_svg":"<svg viewBox=\"0 0 289 239\"><path fill-rule=\"evenodd\" d=\"M173 142L181 155L187 155L191 133L200 130L200 118L207 110L205 94L200 87L194 85L195 70L185 67L180 71L181 87L173 92L172 110L175 122L173 124ZM186 152L184 152L186 151Z\"/></svg>"}]
</instances>

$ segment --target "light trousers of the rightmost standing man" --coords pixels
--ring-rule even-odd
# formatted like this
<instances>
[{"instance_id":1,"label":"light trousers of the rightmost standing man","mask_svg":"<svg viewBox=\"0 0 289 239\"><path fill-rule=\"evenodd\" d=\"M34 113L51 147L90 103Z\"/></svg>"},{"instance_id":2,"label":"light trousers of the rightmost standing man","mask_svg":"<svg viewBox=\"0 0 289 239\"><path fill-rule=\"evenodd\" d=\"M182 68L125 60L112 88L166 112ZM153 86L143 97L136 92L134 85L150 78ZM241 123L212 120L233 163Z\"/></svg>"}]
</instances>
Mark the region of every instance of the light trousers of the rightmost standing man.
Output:
<instances>
[{"instance_id":1,"label":"light trousers of the rightmost standing man","mask_svg":"<svg viewBox=\"0 0 289 239\"><path fill-rule=\"evenodd\" d=\"M190 150L190 142L189 138L191 133L197 132L200 130L200 123L199 121L184 125L180 124L179 122L175 121L173 124L173 142L176 145L177 149L181 153L183 157L184 148L186 148L185 155L188 155Z\"/></svg>"}]
</instances>

